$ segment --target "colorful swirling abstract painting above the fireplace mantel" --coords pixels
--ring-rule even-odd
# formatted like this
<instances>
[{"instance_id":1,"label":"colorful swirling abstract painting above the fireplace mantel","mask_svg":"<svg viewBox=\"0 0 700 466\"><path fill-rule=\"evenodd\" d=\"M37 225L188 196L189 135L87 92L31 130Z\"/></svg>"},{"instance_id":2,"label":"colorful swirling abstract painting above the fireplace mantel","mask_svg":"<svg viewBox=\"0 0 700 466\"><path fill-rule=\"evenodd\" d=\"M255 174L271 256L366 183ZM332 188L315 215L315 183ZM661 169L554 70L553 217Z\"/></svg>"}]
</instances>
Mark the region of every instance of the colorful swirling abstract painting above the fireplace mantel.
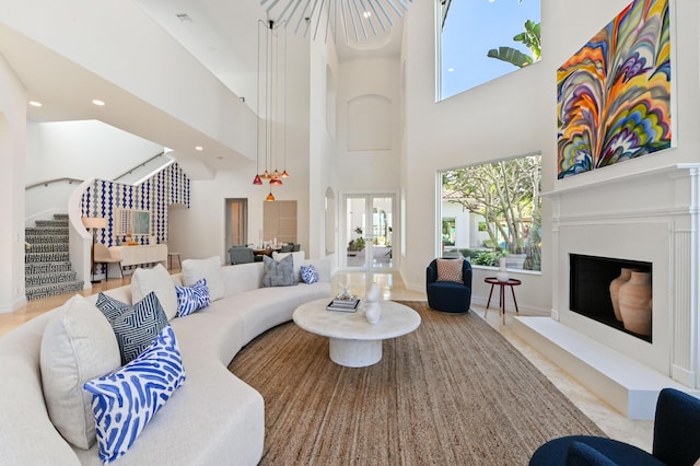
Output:
<instances>
[{"instance_id":1,"label":"colorful swirling abstract painting above the fireplace mantel","mask_svg":"<svg viewBox=\"0 0 700 466\"><path fill-rule=\"evenodd\" d=\"M559 68L559 179L670 147L668 10L633 1Z\"/></svg>"}]
</instances>

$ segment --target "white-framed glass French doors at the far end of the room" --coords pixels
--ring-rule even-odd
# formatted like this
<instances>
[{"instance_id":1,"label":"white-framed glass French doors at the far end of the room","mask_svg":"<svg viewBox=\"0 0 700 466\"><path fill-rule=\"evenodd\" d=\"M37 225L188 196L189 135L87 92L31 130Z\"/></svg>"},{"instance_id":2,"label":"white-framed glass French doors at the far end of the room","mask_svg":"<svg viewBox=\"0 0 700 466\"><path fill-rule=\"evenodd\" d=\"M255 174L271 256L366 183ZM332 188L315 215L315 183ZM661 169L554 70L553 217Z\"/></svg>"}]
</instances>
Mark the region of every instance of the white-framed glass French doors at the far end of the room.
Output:
<instances>
[{"instance_id":1,"label":"white-framed glass French doors at the far end of the room","mask_svg":"<svg viewBox=\"0 0 700 466\"><path fill-rule=\"evenodd\" d=\"M346 196L343 244L347 268L394 268L394 199L393 195Z\"/></svg>"}]
</instances>

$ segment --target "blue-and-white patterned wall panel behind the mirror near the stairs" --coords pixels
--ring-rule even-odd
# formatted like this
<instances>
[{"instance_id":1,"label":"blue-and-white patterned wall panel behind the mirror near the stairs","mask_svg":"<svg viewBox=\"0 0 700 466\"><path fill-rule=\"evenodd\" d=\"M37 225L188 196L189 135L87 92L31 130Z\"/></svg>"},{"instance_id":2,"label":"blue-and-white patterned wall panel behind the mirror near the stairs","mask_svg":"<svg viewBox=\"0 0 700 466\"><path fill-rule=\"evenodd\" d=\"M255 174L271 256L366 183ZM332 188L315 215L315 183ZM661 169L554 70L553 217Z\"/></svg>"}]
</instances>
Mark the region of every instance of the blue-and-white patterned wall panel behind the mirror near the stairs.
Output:
<instances>
[{"instance_id":1,"label":"blue-and-white patterned wall panel behind the mirror near the stairs","mask_svg":"<svg viewBox=\"0 0 700 466\"><path fill-rule=\"evenodd\" d=\"M125 235L117 235L115 223L117 209L136 209L151 212L151 233L159 243L167 243L167 207L180 203L189 208L189 177L173 163L154 174L140 185L95 179L81 199L82 217L104 217L107 228L100 231L98 241L107 246L126 242ZM148 236L137 236L133 241L148 244Z\"/></svg>"}]
</instances>

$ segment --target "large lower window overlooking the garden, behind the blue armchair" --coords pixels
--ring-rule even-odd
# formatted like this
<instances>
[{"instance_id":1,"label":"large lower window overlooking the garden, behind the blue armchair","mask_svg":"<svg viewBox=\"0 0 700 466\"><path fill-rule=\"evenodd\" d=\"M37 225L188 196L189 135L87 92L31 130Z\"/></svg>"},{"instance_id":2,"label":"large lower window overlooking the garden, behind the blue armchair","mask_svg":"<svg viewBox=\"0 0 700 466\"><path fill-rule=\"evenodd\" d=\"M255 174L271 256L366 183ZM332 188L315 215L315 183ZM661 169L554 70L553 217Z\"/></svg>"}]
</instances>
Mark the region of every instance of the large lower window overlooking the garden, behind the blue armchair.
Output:
<instances>
[{"instance_id":1,"label":"large lower window overlooking the garden, behind the blue armchair","mask_svg":"<svg viewBox=\"0 0 700 466\"><path fill-rule=\"evenodd\" d=\"M443 238L454 224L453 244L443 248L476 266L510 256L518 268L541 270L540 178L540 154L442 172Z\"/></svg>"}]
</instances>

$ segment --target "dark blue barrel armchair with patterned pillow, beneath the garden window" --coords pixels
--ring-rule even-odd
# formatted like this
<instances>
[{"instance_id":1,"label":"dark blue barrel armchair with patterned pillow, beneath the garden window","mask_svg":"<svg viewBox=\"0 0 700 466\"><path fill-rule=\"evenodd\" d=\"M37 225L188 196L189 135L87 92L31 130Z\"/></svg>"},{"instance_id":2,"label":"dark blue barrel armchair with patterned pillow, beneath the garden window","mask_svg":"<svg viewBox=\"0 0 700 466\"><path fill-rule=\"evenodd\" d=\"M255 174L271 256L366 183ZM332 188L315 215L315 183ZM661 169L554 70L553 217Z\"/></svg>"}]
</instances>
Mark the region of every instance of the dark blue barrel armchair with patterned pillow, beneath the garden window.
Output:
<instances>
[{"instance_id":1,"label":"dark blue barrel armchair with patterned pillow, beneath the garden window","mask_svg":"<svg viewBox=\"0 0 700 466\"><path fill-rule=\"evenodd\" d=\"M425 293L428 305L442 312L466 313L471 305L471 264L462 263L462 283L438 281L438 259L433 259L425 270Z\"/></svg>"}]
</instances>

